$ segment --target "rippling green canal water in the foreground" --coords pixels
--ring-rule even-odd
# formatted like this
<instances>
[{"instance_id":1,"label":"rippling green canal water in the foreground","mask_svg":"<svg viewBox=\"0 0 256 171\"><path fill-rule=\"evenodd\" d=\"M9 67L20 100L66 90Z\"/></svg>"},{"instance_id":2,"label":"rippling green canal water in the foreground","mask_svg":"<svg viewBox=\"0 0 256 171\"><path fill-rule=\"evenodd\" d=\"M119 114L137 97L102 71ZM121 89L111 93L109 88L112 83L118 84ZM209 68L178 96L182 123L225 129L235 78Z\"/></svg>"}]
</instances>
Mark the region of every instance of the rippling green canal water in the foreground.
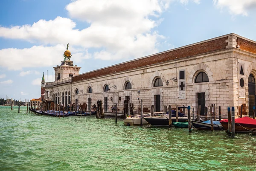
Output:
<instances>
[{"instance_id":1,"label":"rippling green canal water in the foreground","mask_svg":"<svg viewBox=\"0 0 256 171\"><path fill-rule=\"evenodd\" d=\"M0 171L255 171L256 136L0 107Z\"/></svg>"}]
</instances>

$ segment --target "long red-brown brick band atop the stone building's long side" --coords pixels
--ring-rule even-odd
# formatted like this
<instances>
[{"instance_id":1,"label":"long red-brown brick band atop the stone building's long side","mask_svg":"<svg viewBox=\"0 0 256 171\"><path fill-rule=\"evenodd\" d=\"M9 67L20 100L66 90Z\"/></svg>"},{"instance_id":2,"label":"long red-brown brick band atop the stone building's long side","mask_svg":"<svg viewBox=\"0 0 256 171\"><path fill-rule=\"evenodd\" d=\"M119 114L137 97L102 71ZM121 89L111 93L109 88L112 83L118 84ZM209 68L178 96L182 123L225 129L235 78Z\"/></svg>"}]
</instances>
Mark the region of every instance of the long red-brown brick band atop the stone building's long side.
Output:
<instances>
[{"instance_id":1,"label":"long red-brown brick band atop the stone building's long side","mask_svg":"<svg viewBox=\"0 0 256 171\"><path fill-rule=\"evenodd\" d=\"M104 68L88 72L85 74L74 76L72 81L81 81L84 79L95 78L103 75L108 75L115 72L122 72L139 67L145 67L147 65L158 64L161 62L171 61L175 59L185 58L193 55L199 55L207 52L213 52L216 50L225 49L227 43L225 42L227 37L215 39L212 41L203 42L193 46L184 47L181 49L172 50L169 52L163 52L157 55L149 56L147 58L141 58L135 61L126 62L113 67ZM240 40L239 40L240 41Z\"/></svg>"}]
</instances>

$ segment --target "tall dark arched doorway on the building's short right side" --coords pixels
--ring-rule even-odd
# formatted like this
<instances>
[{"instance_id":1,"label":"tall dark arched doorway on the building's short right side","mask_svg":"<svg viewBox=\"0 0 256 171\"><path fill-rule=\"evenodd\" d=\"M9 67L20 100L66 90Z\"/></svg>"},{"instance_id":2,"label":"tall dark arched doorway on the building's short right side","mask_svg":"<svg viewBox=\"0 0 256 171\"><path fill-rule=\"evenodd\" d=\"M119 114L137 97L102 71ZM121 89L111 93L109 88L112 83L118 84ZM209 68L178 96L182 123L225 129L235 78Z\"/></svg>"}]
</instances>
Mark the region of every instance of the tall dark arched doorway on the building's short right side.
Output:
<instances>
[{"instance_id":1,"label":"tall dark arched doorway on the building's short right side","mask_svg":"<svg viewBox=\"0 0 256 171\"><path fill-rule=\"evenodd\" d=\"M255 78L252 74L248 78L248 88L249 88L249 116L253 117L253 106L255 105Z\"/></svg>"}]
</instances>

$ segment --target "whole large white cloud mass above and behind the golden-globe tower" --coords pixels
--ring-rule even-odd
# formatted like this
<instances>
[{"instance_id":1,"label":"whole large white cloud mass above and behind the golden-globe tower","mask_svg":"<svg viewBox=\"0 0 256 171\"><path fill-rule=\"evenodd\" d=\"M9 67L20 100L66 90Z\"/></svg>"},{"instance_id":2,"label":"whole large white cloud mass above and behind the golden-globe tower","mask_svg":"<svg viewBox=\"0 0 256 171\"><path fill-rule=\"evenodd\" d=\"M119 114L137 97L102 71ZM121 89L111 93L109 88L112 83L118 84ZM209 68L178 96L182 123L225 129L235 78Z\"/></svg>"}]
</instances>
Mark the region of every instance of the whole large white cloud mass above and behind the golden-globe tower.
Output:
<instances>
[{"instance_id":1,"label":"whole large white cloud mass above and behind the golden-globe tower","mask_svg":"<svg viewBox=\"0 0 256 171\"><path fill-rule=\"evenodd\" d=\"M52 45L2 49L0 59L10 55L17 62L11 65L15 60L6 60L0 66L8 66L9 70L21 70L30 66L56 65L56 61L59 62L62 58L65 47L60 44L64 42L84 49L80 52L71 50L75 52L72 55L79 56L77 61L82 58L137 58L158 52L155 44L163 36L154 32L154 28L161 23L160 15L168 9L170 1L75 0L66 6L66 10L71 17L89 23L87 28L76 29L76 23L64 17L39 20L33 25L0 27L0 37ZM88 48L94 48L98 52L89 54Z\"/></svg>"}]
</instances>

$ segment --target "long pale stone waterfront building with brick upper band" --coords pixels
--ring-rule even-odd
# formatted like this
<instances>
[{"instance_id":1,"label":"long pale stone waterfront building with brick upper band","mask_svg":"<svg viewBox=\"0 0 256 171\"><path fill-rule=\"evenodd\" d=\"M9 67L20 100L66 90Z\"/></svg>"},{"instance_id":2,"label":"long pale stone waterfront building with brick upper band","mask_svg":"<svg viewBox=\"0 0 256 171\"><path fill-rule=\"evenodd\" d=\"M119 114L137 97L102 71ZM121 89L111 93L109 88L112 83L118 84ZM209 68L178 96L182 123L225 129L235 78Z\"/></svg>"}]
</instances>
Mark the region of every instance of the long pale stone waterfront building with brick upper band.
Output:
<instances>
[{"instance_id":1,"label":"long pale stone waterfront building with brick upper band","mask_svg":"<svg viewBox=\"0 0 256 171\"><path fill-rule=\"evenodd\" d=\"M240 88L241 90L239 90L239 64L244 64L245 84L243 88ZM69 68L65 69L65 73L68 73L68 70ZM186 84L183 99L179 97L179 91L181 91L179 90L179 71L182 70L185 71L184 83ZM56 71L60 70L55 69L55 75ZM206 73L208 81L195 83L197 75L201 72ZM55 79L55 82L46 84L45 91L52 92L52 98L60 93L61 100L63 93L70 92L71 102L67 103L69 105L76 104L76 102L92 105L102 100L103 104L107 103L105 108L110 111L111 106L118 103L119 112L122 112L124 100L127 98L134 104L134 110L138 110L140 105L138 90L140 90L140 99L143 99L143 109L149 110L151 105L156 106L156 103L160 103L161 111L164 110L165 105L172 105L175 108L176 104L195 107L197 111L198 104L201 104L198 96L201 97L203 93L205 106L215 104L217 113L219 106L223 115L227 113L227 107L234 106L235 113L238 115L239 106L244 104L246 113L243 115L249 115L248 78L250 74L256 78L256 42L231 33L111 67L74 75L70 81L61 82L65 79L62 78L57 82ZM163 86L154 87L158 78L163 82ZM176 78L177 82L171 78ZM125 90L128 82L131 83L131 89ZM168 85L167 82L169 82ZM106 85L110 91L104 92ZM88 93L90 88L91 93ZM239 97L242 89L245 91L245 96ZM160 95L158 100L157 95L158 97ZM251 102L250 105L252 105Z\"/></svg>"}]
</instances>

